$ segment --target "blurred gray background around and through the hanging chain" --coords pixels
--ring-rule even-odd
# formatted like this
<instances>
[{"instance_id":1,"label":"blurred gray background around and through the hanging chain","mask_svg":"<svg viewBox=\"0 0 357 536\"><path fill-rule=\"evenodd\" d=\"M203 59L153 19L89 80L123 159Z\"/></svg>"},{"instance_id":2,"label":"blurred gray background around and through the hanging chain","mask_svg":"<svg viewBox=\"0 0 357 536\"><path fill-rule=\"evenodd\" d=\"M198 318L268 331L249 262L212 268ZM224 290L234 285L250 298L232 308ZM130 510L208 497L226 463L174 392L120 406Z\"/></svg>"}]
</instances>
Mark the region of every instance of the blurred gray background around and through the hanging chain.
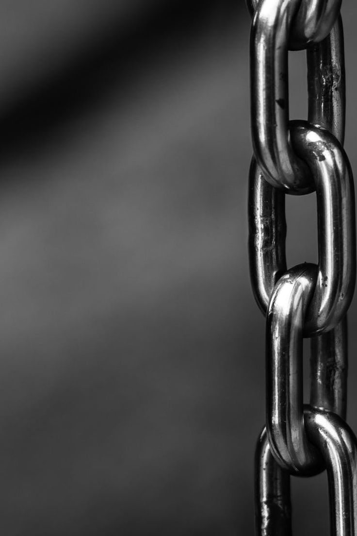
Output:
<instances>
[{"instance_id":1,"label":"blurred gray background around and through the hanging chain","mask_svg":"<svg viewBox=\"0 0 357 536\"><path fill-rule=\"evenodd\" d=\"M342 12L356 171L357 4ZM1 0L0 14L1 533L253 536L264 318L247 267L245 4ZM291 117L306 118L305 55L290 62ZM314 195L288 197L287 220L288 264L315 262ZM356 322L355 300L357 431ZM325 475L292 493L294 533L327 533Z\"/></svg>"}]
</instances>

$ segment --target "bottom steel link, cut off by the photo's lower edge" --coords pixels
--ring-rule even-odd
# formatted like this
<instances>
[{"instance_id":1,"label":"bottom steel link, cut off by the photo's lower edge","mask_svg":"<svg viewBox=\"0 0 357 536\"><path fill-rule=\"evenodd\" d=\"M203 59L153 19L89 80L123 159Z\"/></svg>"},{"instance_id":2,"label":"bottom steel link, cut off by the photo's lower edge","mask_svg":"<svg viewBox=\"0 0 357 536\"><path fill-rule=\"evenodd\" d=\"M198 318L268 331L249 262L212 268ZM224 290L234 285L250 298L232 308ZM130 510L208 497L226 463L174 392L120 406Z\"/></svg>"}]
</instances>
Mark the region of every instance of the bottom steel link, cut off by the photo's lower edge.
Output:
<instances>
[{"instance_id":1,"label":"bottom steel link, cut off by the photo's lower edge","mask_svg":"<svg viewBox=\"0 0 357 536\"><path fill-rule=\"evenodd\" d=\"M305 426L328 472L331 536L357 533L357 440L334 413L306 406ZM265 429L255 455L257 536L291 536L290 482L272 456Z\"/></svg>"}]
</instances>

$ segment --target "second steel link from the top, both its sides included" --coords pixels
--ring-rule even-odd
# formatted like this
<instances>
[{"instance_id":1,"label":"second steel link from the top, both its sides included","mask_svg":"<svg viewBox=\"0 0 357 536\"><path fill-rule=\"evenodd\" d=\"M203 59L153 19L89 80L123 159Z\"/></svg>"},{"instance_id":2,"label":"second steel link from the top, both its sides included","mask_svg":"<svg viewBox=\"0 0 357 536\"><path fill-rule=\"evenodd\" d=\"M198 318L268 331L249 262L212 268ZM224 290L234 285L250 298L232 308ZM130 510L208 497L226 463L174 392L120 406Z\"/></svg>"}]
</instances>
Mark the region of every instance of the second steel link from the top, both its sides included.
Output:
<instances>
[{"instance_id":1,"label":"second steel link from the top, both its sides included","mask_svg":"<svg viewBox=\"0 0 357 536\"><path fill-rule=\"evenodd\" d=\"M287 37L295 4L262 0L255 12L250 38L251 123L255 157L266 180L286 193L301 195L313 191L314 183L288 136ZM309 121L336 123L333 133L339 138L344 129L343 62L337 67L343 55L341 38L337 22L331 36L308 53Z\"/></svg>"}]
</instances>

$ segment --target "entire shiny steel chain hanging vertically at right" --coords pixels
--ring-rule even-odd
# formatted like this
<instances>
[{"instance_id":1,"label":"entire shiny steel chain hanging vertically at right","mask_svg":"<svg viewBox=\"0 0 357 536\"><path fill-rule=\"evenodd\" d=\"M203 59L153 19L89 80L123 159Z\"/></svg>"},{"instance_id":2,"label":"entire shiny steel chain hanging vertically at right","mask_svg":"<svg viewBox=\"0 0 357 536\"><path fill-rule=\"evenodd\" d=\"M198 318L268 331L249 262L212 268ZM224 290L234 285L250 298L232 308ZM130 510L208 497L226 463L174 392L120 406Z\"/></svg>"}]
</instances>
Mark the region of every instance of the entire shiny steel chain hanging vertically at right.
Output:
<instances>
[{"instance_id":1,"label":"entire shiny steel chain hanging vertically at right","mask_svg":"<svg viewBox=\"0 0 357 536\"><path fill-rule=\"evenodd\" d=\"M266 314L267 415L256 450L256 533L291 535L290 475L328 472L333 536L357 536L357 440L345 422L355 285L351 166L343 149L340 0L247 0L252 138L249 263ZM288 50L307 50L308 121L288 119ZM316 191L318 264L287 270L285 194ZM311 339L310 404L302 341Z\"/></svg>"}]
</instances>

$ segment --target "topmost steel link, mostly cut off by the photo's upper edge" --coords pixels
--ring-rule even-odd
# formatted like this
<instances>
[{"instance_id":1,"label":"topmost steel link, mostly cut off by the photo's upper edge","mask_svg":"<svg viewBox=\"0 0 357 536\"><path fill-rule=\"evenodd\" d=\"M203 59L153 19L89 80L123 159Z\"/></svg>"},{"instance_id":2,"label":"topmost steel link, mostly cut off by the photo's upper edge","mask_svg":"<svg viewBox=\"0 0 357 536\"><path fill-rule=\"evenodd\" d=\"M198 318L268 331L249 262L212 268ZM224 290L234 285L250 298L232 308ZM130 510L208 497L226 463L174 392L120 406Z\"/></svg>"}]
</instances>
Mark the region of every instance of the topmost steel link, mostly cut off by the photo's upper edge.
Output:
<instances>
[{"instance_id":1,"label":"topmost steel link, mostly cut off by the photo's upper edge","mask_svg":"<svg viewBox=\"0 0 357 536\"><path fill-rule=\"evenodd\" d=\"M247 0L250 14L259 0ZM294 17L288 46L290 50L302 50L322 41L331 31L339 14L341 0L304 0Z\"/></svg>"}]
</instances>

